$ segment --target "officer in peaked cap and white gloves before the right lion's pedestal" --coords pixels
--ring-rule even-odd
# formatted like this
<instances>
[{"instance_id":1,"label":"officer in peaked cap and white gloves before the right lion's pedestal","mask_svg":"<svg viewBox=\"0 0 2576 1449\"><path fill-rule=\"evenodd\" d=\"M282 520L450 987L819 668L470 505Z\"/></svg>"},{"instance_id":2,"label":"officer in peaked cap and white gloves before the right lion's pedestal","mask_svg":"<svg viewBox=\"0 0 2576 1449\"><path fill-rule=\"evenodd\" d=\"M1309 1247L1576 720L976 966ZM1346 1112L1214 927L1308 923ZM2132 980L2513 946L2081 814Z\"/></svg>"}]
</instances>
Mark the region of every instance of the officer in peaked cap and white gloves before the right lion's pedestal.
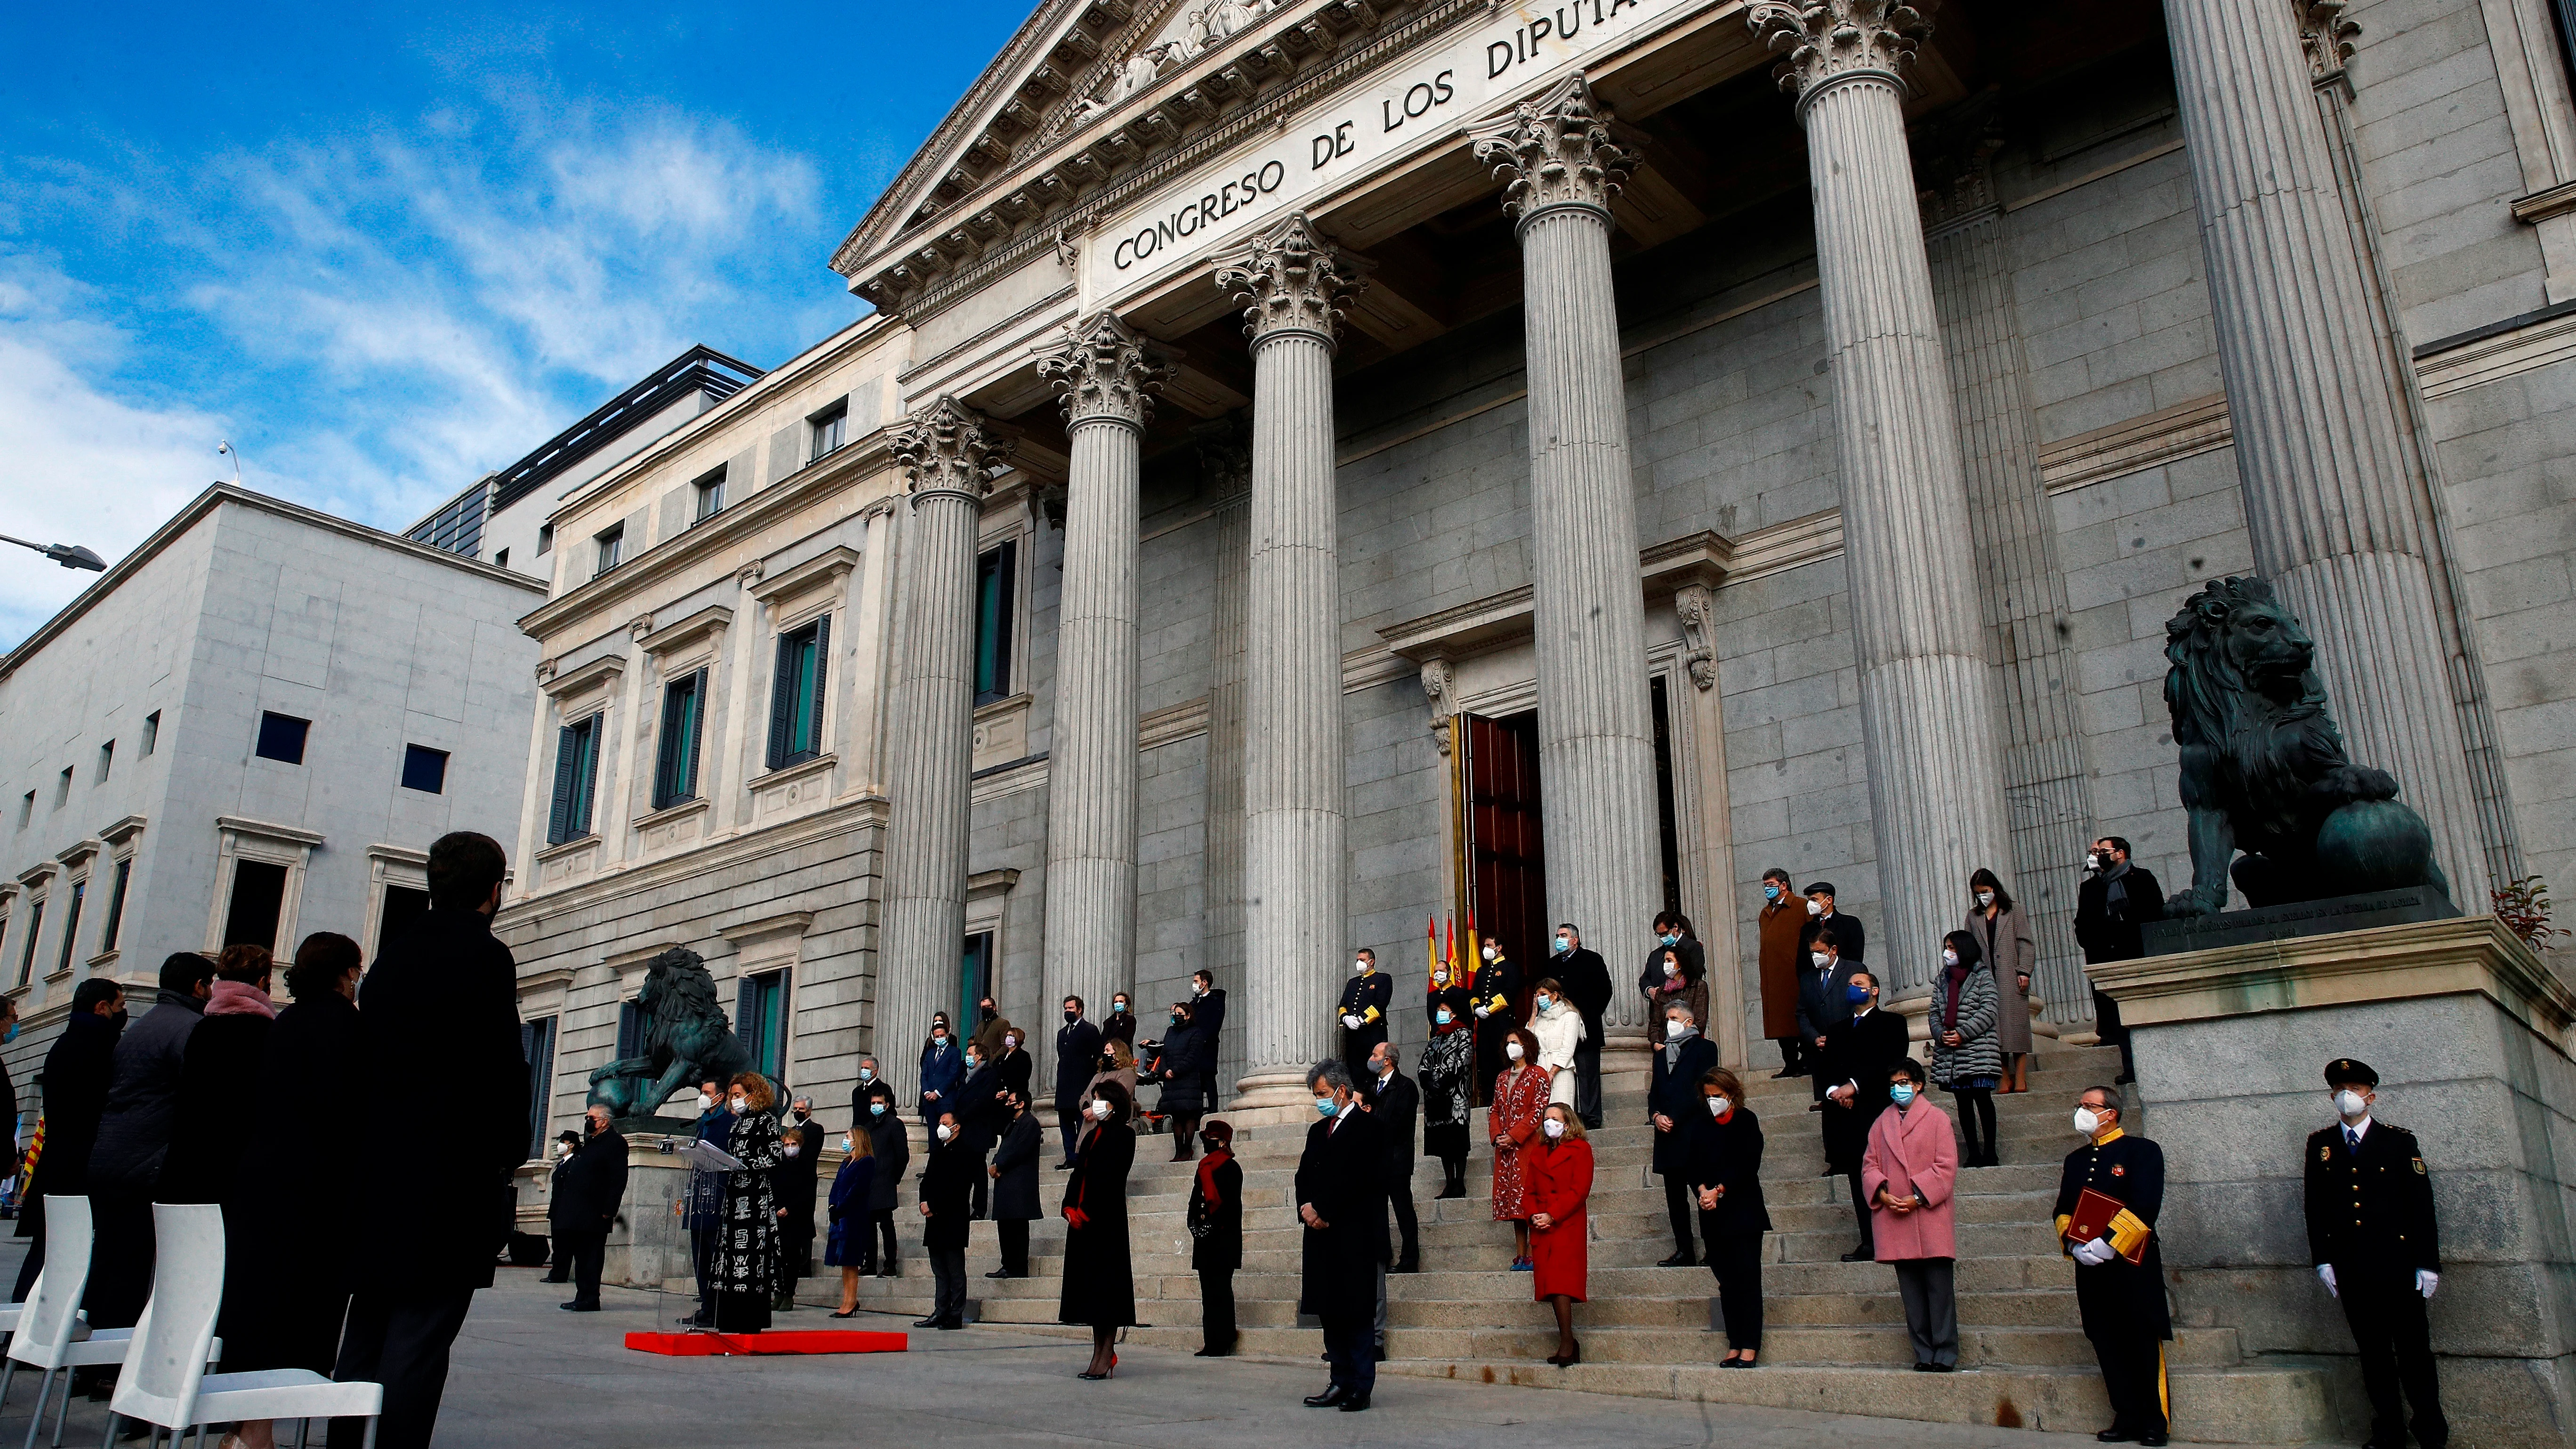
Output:
<instances>
[{"instance_id":1,"label":"officer in peaked cap and white gloves before the right lion's pedestal","mask_svg":"<svg viewBox=\"0 0 2576 1449\"><path fill-rule=\"evenodd\" d=\"M2380 1075L2367 1062L2326 1062L2326 1091L2342 1122L2308 1134L2308 1258L2344 1305L2362 1351L2370 1449L2403 1449L2401 1387L2416 1410L2416 1444L2442 1449L2450 1418L2424 1320L2424 1305L2442 1287L2442 1230L2432 1217L2424 1147L2403 1127L2370 1116L2378 1088Z\"/></svg>"}]
</instances>

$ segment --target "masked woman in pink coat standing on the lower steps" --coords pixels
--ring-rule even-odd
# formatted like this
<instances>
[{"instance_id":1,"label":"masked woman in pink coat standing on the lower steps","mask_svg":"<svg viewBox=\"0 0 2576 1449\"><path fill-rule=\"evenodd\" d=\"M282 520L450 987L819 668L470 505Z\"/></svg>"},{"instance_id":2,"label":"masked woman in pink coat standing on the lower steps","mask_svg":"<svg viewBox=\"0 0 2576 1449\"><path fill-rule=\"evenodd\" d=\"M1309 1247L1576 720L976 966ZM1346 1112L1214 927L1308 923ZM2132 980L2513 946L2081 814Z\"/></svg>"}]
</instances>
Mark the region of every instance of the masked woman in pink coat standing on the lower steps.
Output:
<instances>
[{"instance_id":1,"label":"masked woman in pink coat standing on the lower steps","mask_svg":"<svg viewBox=\"0 0 2576 1449\"><path fill-rule=\"evenodd\" d=\"M1906 1057L1888 1067L1888 1109L1870 1124L1860 1158L1860 1191L1870 1199L1870 1240L1878 1261L1896 1269L1914 1336L1914 1372L1947 1374L1958 1366L1958 1299L1950 1263L1958 1225L1950 1196L1958 1189L1958 1140L1950 1114L1924 1098L1924 1067Z\"/></svg>"}]
</instances>

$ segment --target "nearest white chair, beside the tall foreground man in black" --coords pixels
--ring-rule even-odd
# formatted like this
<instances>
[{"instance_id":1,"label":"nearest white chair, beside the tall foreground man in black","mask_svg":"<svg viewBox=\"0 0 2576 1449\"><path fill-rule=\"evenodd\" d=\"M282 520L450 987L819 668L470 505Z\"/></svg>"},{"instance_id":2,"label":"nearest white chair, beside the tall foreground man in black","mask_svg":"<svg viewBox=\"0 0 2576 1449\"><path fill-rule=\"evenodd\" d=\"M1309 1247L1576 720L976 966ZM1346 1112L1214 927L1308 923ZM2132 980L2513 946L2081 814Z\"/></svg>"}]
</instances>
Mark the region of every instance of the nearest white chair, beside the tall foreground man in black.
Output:
<instances>
[{"instance_id":1,"label":"nearest white chair, beside the tall foreground man in black","mask_svg":"<svg viewBox=\"0 0 2576 1449\"><path fill-rule=\"evenodd\" d=\"M173 1431L173 1441L198 1428L204 1441L204 1426L247 1418L366 1418L366 1446L376 1446L384 1385L343 1385L312 1369L206 1372L224 1351L214 1336L214 1318L224 1307L222 1207L155 1204L152 1232L160 1243L152 1302L144 1305L134 1346L116 1372L100 1449L116 1441L118 1415L155 1426L155 1441L162 1428Z\"/></svg>"}]
</instances>

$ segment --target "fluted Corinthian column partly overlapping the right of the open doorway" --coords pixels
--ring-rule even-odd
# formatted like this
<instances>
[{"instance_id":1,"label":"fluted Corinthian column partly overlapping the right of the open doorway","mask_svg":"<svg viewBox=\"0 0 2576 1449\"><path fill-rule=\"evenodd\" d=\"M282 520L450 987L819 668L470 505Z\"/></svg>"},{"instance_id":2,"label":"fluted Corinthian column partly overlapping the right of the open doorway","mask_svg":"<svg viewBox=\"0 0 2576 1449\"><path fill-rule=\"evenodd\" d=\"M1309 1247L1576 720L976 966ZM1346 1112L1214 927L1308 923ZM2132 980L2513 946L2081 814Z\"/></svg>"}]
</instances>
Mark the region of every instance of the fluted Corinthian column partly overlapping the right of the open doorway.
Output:
<instances>
[{"instance_id":1,"label":"fluted Corinthian column partly overlapping the right of the open doorway","mask_svg":"<svg viewBox=\"0 0 2576 1449\"><path fill-rule=\"evenodd\" d=\"M1610 294L1610 196L1628 152L1569 75L1476 134L1517 219L1530 371L1530 611L1548 918L1571 920L1613 977L1646 959L1662 908L1654 706L1636 572L1628 389ZM1540 967L1543 969L1543 967ZM1610 995L1613 1047L1643 1049L1636 993ZM1643 1070L1643 1062L1638 1065Z\"/></svg>"}]
</instances>

